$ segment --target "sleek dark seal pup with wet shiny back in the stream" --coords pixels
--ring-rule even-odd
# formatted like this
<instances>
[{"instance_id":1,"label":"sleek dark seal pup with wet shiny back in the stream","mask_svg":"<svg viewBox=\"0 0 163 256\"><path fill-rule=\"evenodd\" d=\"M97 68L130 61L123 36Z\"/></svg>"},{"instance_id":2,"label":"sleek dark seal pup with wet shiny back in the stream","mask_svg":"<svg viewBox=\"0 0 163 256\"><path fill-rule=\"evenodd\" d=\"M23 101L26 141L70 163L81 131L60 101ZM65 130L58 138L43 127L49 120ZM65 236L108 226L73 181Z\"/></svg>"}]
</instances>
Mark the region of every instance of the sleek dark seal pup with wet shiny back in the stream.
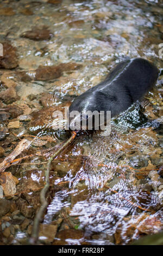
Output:
<instances>
[{"instance_id":1,"label":"sleek dark seal pup with wet shiny back in the stream","mask_svg":"<svg viewBox=\"0 0 163 256\"><path fill-rule=\"evenodd\" d=\"M88 111L111 111L111 117L114 117L127 110L153 87L158 75L158 68L143 58L133 58L117 64L103 82L74 99L69 113L78 111L80 114L70 116L70 129L76 130L76 123L85 119L83 113ZM86 115L86 120L89 118Z\"/></svg>"}]
</instances>

